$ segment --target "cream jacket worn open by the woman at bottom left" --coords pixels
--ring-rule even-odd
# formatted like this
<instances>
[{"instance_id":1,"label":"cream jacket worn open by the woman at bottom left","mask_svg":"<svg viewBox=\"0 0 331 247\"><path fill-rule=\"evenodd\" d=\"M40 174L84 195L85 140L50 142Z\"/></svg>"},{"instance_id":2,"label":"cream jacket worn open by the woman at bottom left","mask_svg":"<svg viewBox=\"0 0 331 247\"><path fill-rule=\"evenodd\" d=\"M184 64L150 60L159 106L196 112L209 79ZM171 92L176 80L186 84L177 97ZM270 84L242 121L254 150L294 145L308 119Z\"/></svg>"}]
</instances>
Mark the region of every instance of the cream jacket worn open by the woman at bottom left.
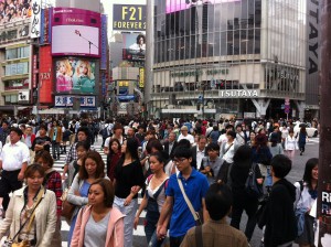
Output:
<instances>
[{"instance_id":1,"label":"cream jacket worn open by the woman at bottom left","mask_svg":"<svg viewBox=\"0 0 331 247\"><path fill-rule=\"evenodd\" d=\"M20 229L20 212L24 206L24 189L15 191L10 200L6 218L0 224L0 239L10 229L10 237ZM35 233L36 247L51 246L50 239L53 238L56 227L56 196L54 192L45 190L41 203L35 208ZM13 239L18 241L18 239Z\"/></svg>"}]
</instances>

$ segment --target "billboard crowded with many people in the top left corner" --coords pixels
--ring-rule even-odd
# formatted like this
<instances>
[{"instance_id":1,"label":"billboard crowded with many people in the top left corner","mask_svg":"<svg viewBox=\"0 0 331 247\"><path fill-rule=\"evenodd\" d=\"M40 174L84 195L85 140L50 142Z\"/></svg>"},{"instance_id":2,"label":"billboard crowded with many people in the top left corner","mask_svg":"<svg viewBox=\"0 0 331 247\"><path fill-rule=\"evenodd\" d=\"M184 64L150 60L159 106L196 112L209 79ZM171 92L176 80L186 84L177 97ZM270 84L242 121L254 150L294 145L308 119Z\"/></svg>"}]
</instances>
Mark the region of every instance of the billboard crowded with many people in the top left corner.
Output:
<instances>
[{"instance_id":1,"label":"billboard crowded with many people in the top left corner","mask_svg":"<svg viewBox=\"0 0 331 247\"><path fill-rule=\"evenodd\" d=\"M31 0L0 0L0 25L29 19L31 15Z\"/></svg>"}]
</instances>

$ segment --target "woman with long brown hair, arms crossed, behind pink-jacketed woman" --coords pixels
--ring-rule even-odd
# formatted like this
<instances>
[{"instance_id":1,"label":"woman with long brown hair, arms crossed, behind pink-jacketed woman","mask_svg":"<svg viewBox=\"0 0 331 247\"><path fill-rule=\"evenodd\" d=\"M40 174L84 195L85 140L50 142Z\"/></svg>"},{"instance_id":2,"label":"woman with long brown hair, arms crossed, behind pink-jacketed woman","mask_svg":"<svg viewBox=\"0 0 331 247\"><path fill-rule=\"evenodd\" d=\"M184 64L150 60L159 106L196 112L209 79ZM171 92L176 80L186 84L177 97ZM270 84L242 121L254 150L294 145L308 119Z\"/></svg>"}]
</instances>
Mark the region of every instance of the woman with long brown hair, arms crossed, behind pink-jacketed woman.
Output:
<instances>
[{"instance_id":1,"label":"woman with long brown hair, arms crossed, behind pink-jacketed woman","mask_svg":"<svg viewBox=\"0 0 331 247\"><path fill-rule=\"evenodd\" d=\"M81 207L88 203L88 189L93 182L102 178L105 178L105 163L103 158L97 151L88 151L83 158L79 172L76 174L67 194L67 201L76 205L76 210L71 222L68 246L71 245L71 239L77 219L77 213Z\"/></svg>"}]
</instances>

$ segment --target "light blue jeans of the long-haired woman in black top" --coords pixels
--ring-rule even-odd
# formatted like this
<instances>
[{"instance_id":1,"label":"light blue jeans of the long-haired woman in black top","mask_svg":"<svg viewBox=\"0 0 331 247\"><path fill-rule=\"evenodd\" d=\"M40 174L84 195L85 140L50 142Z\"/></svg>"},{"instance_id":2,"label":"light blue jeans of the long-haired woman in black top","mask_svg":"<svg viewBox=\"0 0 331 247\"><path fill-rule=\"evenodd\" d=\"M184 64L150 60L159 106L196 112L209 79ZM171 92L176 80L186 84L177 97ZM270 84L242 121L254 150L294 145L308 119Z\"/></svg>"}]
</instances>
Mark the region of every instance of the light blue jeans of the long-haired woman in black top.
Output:
<instances>
[{"instance_id":1,"label":"light blue jeans of the long-haired woman in black top","mask_svg":"<svg viewBox=\"0 0 331 247\"><path fill-rule=\"evenodd\" d=\"M132 198L131 203L128 206L124 205L126 198L119 198L115 196L114 206L116 206L122 214L126 215L124 218L124 228L125 228L125 239L124 247L132 247L132 238L134 238L134 221L135 215L138 210L138 198Z\"/></svg>"}]
</instances>

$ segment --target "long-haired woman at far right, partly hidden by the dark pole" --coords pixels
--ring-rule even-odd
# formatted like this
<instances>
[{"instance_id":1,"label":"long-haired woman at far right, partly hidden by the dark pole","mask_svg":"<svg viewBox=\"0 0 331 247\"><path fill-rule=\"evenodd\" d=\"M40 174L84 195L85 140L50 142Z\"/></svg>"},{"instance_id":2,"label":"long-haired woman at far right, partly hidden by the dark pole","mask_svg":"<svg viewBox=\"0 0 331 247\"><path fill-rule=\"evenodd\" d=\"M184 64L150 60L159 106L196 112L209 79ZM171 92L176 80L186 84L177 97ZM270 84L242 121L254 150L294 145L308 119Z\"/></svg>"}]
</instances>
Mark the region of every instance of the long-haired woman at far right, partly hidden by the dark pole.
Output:
<instances>
[{"instance_id":1,"label":"long-haired woman at far right, partly hidden by the dark pole","mask_svg":"<svg viewBox=\"0 0 331 247\"><path fill-rule=\"evenodd\" d=\"M319 160L311 158L307 161L302 181L295 183L297 187L296 215L301 221L301 234L296 239L300 247L314 246L314 221L310 210L318 196Z\"/></svg>"}]
</instances>

